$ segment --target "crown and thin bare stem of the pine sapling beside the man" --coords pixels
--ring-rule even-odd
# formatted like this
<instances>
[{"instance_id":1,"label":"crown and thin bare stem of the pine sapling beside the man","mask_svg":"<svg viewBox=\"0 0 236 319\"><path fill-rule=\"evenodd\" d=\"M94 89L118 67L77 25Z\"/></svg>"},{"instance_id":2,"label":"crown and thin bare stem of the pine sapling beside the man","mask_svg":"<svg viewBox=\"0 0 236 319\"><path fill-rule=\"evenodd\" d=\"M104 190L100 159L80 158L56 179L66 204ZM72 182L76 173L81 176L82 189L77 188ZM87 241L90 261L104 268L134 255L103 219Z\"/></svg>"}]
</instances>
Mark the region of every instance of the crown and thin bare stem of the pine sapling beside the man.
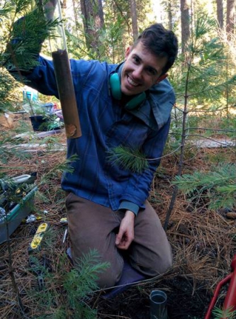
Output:
<instances>
[{"instance_id":1,"label":"crown and thin bare stem of the pine sapling beside the man","mask_svg":"<svg viewBox=\"0 0 236 319\"><path fill-rule=\"evenodd\" d=\"M230 86L233 89L235 83L235 74L231 78L226 74L227 55L225 55L223 44L220 39L213 35L215 21L212 18L203 16L202 14L196 18L196 28L193 35L189 38L186 52L179 59L179 72L176 72L176 85L174 85L176 94L179 95L179 103L184 104L184 116L181 131L181 153L179 159L179 169L177 172L176 183L172 194L172 200L167 210L167 217L164 222L164 230L167 230L169 218L174 208L176 195L180 183L177 181L181 178L181 170L184 164L184 146L186 140L186 114L189 113L191 103L205 104L206 101L220 101L225 94L225 87ZM210 35L213 40L209 41ZM174 79L174 77L173 77ZM174 84L174 82L172 82ZM184 181L184 182L188 182ZM182 184L184 184L184 182ZM202 194L204 185L195 186L195 190ZM193 185L194 189L194 185ZM208 191L208 190L207 190ZM210 194L219 194L215 189L209 191ZM222 194L222 193L220 193ZM205 195L205 194L204 194ZM199 193L194 194L199 196ZM208 193L207 193L208 196ZM232 207L232 196L219 196L214 203L218 206L230 204Z\"/></svg>"}]
</instances>

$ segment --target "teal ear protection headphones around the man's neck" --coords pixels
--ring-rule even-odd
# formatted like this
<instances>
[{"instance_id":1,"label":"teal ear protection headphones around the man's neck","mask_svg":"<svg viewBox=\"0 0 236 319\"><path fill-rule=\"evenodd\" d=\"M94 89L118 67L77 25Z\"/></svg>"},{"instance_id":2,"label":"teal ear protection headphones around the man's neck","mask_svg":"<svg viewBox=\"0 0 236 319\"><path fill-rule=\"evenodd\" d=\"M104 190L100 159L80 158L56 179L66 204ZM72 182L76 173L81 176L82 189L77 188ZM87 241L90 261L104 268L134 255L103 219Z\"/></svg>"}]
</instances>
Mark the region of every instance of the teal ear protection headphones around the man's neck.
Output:
<instances>
[{"instance_id":1,"label":"teal ear protection headphones around the man's neck","mask_svg":"<svg viewBox=\"0 0 236 319\"><path fill-rule=\"evenodd\" d=\"M114 99L121 100L122 92L120 89L120 77L118 73L111 74L110 77L110 87L111 87L111 94ZM125 105L125 108L128 110L133 110L137 108L143 101L146 99L145 92L142 92L138 95L136 95L133 99L128 101L128 103Z\"/></svg>"}]
</instances>

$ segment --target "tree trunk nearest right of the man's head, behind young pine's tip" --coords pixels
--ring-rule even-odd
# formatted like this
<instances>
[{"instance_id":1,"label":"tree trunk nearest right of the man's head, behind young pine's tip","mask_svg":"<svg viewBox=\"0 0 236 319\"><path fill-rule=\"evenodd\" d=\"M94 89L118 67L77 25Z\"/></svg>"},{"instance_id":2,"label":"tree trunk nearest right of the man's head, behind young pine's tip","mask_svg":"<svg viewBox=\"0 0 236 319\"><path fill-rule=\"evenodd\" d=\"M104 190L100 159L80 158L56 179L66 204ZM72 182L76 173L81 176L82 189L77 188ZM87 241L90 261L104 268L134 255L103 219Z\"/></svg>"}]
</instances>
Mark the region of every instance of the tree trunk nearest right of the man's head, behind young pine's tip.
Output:
<instances>
[{"instance_id":1,"label":"tree trunk nearest right of the man's head, behind young pine's tip","mask_svg":"<svg viewBox=\"0 0 236 319\"><path fill-rule=\"evenodd\" d=\"M190 30L189 30L189 0L181 0L181 50L182 53L185 52L186 43L189 40Z\"/></svg>"}]
</instances>

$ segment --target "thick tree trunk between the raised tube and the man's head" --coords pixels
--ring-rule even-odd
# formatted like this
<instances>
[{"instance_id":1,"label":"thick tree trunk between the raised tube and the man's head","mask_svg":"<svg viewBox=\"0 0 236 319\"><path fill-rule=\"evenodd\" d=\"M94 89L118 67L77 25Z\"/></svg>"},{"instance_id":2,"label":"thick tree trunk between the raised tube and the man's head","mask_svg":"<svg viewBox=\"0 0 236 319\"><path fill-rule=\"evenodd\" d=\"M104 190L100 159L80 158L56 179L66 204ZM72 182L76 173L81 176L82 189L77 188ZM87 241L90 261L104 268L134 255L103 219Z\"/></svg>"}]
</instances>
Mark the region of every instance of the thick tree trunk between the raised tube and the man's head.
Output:
<instances>
[{"instance_id":1,"label":"thick tree trunk between the raised tube and the man's head","mask_svg":"<svg viewBox=\"0 0 236 319\"><path fill-rule=\"evenodd\" d=\"M99 53L99 30L104 26L103 6L101 0L80 0L86 46Z\"/></svg>"}]
</instances>

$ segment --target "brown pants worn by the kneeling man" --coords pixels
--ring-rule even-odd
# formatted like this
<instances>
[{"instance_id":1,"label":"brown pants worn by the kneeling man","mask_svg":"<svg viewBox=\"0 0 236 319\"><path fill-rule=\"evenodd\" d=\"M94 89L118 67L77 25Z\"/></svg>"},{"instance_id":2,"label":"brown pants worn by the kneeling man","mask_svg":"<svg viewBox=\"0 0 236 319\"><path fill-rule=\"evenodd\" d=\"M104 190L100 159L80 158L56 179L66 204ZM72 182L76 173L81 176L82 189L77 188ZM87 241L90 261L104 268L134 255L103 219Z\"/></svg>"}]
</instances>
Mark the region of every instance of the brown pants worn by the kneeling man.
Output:
<instances>
[{"instance_id":1,"label":"brown pants worn by the kneeling man","mask_svg":"<svg viewBox=\"0 0 236 319\"><path fill-rule=\"evenodd\" d=\"M157 276L172 266L172 250L162 224L150 203L135 217L135 239L128 250L130 264L145 276ZM66 199L72 257L96 249L101 262L111 267L99 277L101 288L115 286L123 270L123 257L116 248L116 233L124 213L88 201L72 193Z\"/></svg>"}]
</instances>

